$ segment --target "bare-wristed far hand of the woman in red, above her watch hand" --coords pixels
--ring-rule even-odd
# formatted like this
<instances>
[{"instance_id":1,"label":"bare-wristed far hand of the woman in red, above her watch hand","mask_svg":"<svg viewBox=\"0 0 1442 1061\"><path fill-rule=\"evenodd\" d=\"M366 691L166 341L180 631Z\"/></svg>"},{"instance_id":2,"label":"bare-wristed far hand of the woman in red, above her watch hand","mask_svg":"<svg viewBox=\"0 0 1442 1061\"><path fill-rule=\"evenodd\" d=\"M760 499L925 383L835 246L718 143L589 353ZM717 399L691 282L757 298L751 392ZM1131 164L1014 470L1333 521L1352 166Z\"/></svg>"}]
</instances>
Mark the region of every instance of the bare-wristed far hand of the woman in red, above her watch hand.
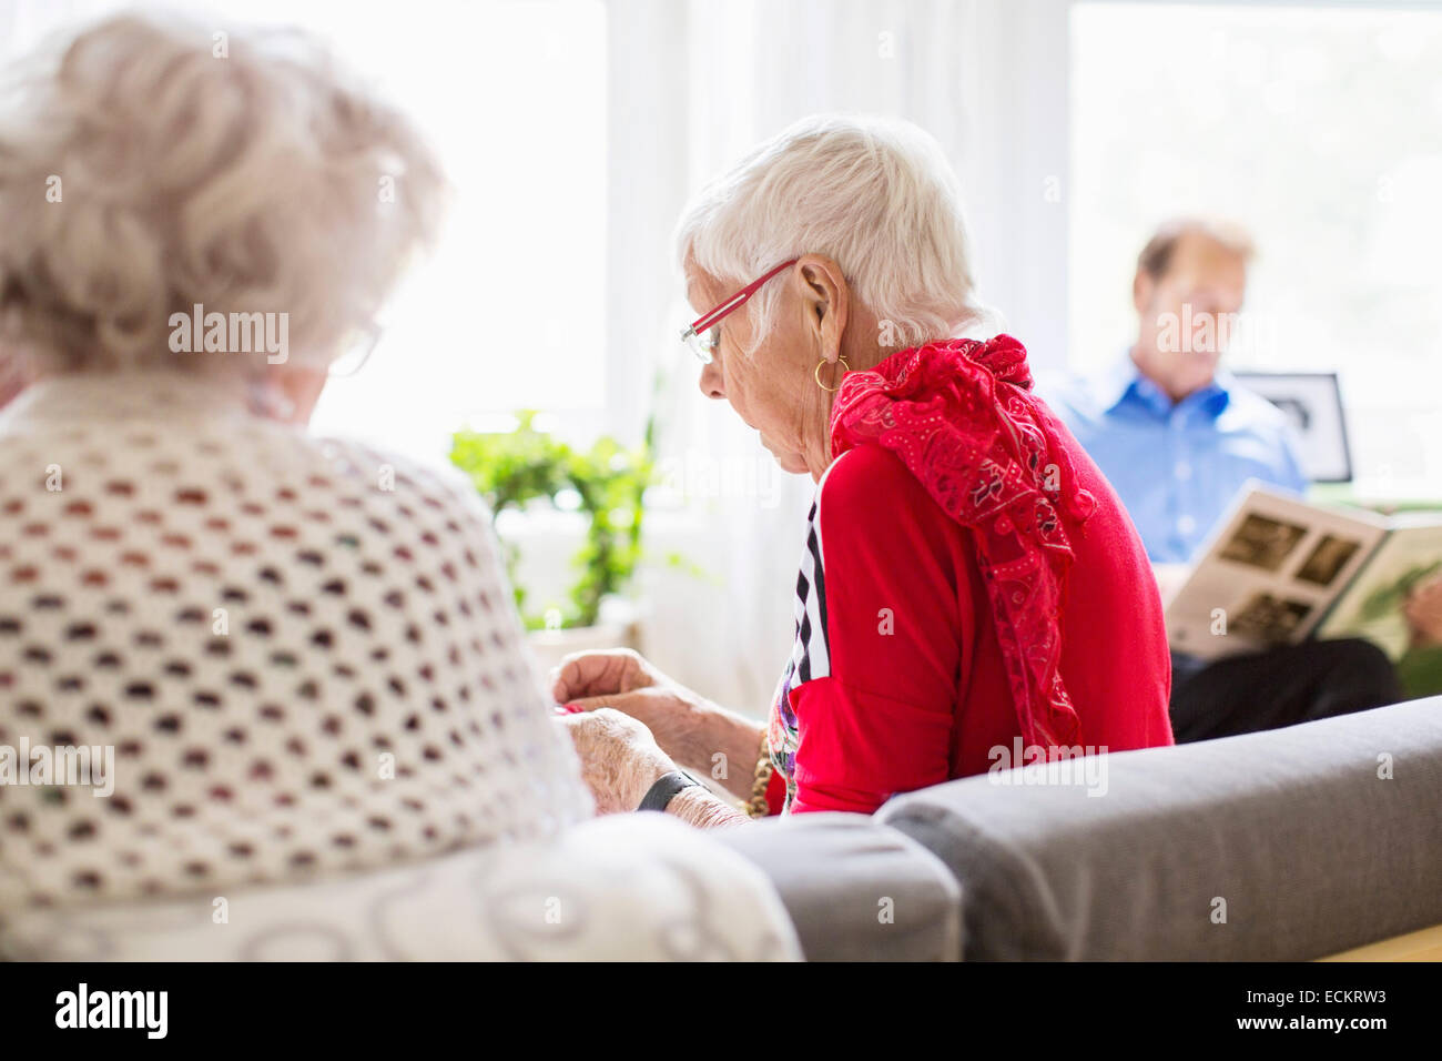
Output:
<instances>
[{"instance_id":1,"label":"bare-wristed far hand of the woman in red, above her watch hand","mask_svg":"<svg viewBox=\"0 0 1442 1061\"><path fill-rule=\"evenodd\" d=\"M630 715L678 762L695 765L709 756L699 733L705 700L630 648L565 657L551 673L551 696L585 712L614 707Z\"/></svg>"}]
</instances>

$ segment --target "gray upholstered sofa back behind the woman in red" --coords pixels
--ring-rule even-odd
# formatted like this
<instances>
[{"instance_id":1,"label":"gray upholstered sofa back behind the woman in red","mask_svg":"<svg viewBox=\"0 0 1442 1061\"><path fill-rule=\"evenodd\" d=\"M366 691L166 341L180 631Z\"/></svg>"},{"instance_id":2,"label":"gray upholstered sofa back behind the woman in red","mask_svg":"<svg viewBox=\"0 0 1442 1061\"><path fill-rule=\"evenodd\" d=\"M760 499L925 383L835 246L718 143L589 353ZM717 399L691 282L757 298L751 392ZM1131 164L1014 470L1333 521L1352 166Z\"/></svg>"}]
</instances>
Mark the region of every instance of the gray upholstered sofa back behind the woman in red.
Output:
<instances>
[{"instance_id":1,"label":"gray upholstered sofa back behind the woman in red","mask_svg":"<svg viewBox=\"0 0 1442 1061\"><path fill-rule=\"evenodd\" d=\"M1309 960L1442 922L1442 699L1105 758L1096 795L982 775L727 843L812 960Z\"/></svg>"}]
</instances>

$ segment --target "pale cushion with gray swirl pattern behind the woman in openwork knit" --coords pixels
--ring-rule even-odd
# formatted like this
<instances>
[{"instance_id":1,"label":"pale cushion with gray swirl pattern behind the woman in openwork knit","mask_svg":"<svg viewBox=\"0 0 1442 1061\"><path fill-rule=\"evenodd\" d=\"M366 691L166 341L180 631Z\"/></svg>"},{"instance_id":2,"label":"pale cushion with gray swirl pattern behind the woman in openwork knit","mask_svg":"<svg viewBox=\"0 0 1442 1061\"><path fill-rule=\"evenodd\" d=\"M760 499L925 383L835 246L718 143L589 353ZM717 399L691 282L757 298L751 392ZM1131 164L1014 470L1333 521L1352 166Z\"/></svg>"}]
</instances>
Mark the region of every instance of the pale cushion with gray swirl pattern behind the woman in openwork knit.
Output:
<instances>
[{"instance_id":1,"label":"pale cushion with gray swirl pattern behind the woman in openwork knit","mask_svg":"<svg viewBox=\"0 0 1442 1061\"><path fill-rule=\"evenodd\" d=\"M800 957L764 875L675 818L310 885L23 914L10 960L637 960Z\"/></svg>"}]
</instances>

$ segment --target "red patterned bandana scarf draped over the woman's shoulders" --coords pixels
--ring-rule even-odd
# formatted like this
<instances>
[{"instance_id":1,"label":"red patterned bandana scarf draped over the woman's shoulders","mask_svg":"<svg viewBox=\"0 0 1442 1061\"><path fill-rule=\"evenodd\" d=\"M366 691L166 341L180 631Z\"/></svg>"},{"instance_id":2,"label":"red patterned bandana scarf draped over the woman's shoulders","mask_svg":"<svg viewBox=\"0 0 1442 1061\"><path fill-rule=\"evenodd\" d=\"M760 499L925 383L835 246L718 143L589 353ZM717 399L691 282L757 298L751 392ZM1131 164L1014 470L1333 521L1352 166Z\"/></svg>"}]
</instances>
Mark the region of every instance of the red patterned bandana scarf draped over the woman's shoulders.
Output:
<instances>
[{"instance_id":1,"label":"red patterned bandana scarf draped over the woman's shoulders","mask_svg":"<svg viewBox=\"0 0 1442 1061\"><path fill-rule=\"evenodd\" d=\"M832 458L864 443L900 456L975 533L1025 742L1079 743L1058 615L1073 560L1067 524L1080 527L1096 498L1077 486L1057 424L1031 393L1025 348L1009 335L947 339L848 372L831 411Z\"/></svg>"}]
</instances>

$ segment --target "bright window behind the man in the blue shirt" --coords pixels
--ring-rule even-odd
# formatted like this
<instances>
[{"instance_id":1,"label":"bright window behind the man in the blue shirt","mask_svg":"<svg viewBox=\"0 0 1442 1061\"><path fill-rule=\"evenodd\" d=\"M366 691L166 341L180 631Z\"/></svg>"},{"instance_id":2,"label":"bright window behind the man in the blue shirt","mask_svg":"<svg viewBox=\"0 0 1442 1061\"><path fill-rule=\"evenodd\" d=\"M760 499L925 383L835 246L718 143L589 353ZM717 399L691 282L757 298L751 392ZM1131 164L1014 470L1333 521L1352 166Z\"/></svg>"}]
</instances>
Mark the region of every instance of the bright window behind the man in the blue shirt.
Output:
<instances>
[{"instance_id":1,"label":"bright window behind the man in the blue shirt","mask_svg":"<svg viewBox=\"0 0 1442 1061\"><path fill-rule=\"evenodd\" d=\"M1358 491L1442 481L1442 12L1077 3L1070 357L1135 338L1149 230L1243 222L1259 257L1236 367L1335 370Z\"/></svg>"}]
</instances>

